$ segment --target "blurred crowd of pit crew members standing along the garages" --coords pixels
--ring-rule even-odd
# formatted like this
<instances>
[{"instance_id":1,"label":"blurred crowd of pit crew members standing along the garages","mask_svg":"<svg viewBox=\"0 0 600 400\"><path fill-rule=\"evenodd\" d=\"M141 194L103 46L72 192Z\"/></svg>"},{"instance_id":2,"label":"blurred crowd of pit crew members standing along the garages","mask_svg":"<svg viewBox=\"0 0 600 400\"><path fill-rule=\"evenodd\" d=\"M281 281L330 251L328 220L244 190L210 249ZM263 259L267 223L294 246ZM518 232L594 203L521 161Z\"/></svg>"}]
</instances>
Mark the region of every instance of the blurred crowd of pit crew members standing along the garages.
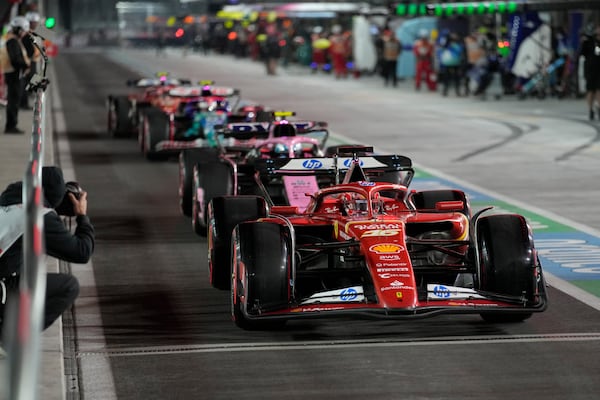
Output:
<instances>
[{"instance_id":1,"label":"blurred crowd of pit crew members standing along the garages","mask_svg":"<svg viewBox=\"0 0 600 400\"><path fill-rule=\"evenodd\" d=\"M397 27L383 26L370 29L367 40L374 48L374 62L370 68L361 68L356 52L356 30L332 21L329 26L294 25L293 23L265 22L242 26L230 31L221 25L194 27L189 35L187 54L193 48L202 54L216 52L250 57L265 63L266 73L276 75L278 67L295 63L309 67L313 73L331 74L335 79L365 74L378 74L385 86L396 87L401 76L400 60L410 53L414 60L415 90L426 89L440 92L443 96L485 96L496 79L497 94L515 94L520 81L508 68L506 57L498 51L498 38L493 29L474 29L466 35L448 30L419 29L408 42L400 40ZM556 49L557 57L559 49ZM570 64L554 74L552 94L566 95L569 88L566 72L572 72L576 50L570 49ZM360 65L359 65L360 64Z\"/></svg>"}]
</instances>

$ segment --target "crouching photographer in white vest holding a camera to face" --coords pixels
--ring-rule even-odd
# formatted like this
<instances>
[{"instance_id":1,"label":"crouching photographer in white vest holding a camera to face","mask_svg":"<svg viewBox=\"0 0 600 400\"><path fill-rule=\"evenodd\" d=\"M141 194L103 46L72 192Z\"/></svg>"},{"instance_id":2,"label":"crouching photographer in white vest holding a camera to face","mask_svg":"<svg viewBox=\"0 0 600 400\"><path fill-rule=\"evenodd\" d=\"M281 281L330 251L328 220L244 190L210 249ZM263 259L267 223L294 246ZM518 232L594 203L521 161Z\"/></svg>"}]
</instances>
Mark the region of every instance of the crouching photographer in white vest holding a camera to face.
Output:
<instances>
[{"instance_id":1,"label":"crouching photographer in white vest holding a camera to face","mask_svg":"<svg viewBox=\"0 0 600 400\"><path fill-rule=\"evenodd\" d=\"M66 262L87 263L95 243L94 227L86 215L87 193L75 182L65 183L58 167L42 168L42 191L46 254ZM25 211L22 192L22 182L15 182L0 194L0 325L5 308L1 301L10 299L2 291L18 290L23 268ZM61 215L75 218L74 232L65 226ZM74 276L48 273L43 329L52 325L78 295L79 282Z\"/></svg>"}]
</instances>

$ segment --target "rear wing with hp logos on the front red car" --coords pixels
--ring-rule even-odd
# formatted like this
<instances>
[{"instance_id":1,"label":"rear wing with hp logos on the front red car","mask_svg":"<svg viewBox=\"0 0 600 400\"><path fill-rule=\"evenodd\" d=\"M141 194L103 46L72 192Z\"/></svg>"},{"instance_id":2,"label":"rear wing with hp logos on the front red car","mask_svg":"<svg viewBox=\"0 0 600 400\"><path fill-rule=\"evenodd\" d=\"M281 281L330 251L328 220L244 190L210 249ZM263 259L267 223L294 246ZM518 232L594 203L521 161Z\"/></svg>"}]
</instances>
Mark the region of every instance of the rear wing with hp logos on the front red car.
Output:
<instances>
[{"instance_id":1,"label":"rear wing with hp logos on the front red car","mask_svg":"<svg viewBox=\"0 0 600 400\"><path fill-rule=\"evenodd\" d=\"M401 155L370 155L363 157L315 157L259 159L254 165L261 177L275 175L329 175L340 182L358 180L383 181L408 187L414 176L410 158Z\"/></svg>"}]
</instances>

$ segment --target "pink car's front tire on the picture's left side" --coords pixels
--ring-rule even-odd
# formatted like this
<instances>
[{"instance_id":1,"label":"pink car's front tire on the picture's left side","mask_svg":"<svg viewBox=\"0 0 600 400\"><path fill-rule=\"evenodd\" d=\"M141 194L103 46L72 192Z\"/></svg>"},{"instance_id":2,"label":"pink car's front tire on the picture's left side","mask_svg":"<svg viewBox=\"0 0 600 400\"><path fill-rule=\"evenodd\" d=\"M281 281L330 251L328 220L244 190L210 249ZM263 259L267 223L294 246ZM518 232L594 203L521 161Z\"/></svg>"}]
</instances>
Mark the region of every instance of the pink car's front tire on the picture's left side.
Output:
<instances>
[{"instance_id":1,"label":"pink car's front tire on the picture's left side","mask_svg":"<svg viewBox=\"0 0 600 400\"><path fill-rule=\"evenodd\" d=\"M196 234L206 236L210 200L234 194L233 169L216 158L213 162L196 163L192 175L192 228Z\"/></svg>"}]
</instances>

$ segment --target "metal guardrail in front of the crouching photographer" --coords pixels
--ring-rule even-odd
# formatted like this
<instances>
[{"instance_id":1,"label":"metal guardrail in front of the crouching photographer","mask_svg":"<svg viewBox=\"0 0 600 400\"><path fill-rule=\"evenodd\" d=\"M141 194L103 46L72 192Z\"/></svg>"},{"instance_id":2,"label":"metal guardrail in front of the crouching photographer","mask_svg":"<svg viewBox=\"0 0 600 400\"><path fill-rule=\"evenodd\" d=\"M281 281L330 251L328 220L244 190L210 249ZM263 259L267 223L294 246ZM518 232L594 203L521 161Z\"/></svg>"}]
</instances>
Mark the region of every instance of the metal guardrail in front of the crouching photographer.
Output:
<instances>
[{"instance_id":1,"label":"metal guardrail in front of the crouching photographer","mask_svg":"<svg viewBox=\"0 0 600 400\"><path fill-rule=\"evenodd\" d=\"M48 57L36 40L34 45L42 55L43 68L42 74L36 74L27 87L28 91L35 92L35 102L31 153L23 178L23 269L18 294L11 295L14 298L7 302L3 328L9 363L8 396L11 400L37 398L46 297L42 165L46 132L44 97L49 84L46 78Z\"/></svg>"}]
</instances>

